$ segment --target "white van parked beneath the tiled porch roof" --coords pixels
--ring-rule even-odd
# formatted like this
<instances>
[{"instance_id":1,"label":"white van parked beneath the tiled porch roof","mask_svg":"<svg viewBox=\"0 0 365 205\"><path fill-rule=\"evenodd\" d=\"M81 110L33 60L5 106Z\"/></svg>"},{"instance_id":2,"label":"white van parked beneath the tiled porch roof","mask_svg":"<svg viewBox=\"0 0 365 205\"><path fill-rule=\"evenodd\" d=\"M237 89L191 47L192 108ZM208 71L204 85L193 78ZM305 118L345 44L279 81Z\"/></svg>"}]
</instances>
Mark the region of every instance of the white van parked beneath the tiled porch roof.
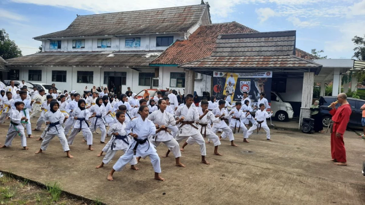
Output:
<instances>
[{"instance_id":1,"label":"white van parked beneath the tiled porch roof","mask_svg":"<svg viewBox=\"0 0 365 205\"><path fill-rule=\"evenodd\" d=\"M278 121L287 121L292 119L294 115L292 105L289 102L285 102L279 93L273 91L271 91L270 109L274 112L273 116Z\"/></svg>"}]
</instances>

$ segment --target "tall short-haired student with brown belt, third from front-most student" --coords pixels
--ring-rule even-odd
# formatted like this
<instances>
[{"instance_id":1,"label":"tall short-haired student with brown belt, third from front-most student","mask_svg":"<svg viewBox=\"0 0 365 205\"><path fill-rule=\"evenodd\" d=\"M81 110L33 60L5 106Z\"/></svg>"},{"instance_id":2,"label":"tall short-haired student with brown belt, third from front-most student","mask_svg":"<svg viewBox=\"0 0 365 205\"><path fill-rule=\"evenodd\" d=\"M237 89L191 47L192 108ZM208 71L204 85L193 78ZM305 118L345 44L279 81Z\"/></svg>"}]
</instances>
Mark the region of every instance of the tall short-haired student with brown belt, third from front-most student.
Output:
<instances>
[{"instance_id":1,"label":"tall short-haired student with brown belt, third from front-most student","mask_svg":"<svg viewBox=\"0 0 365 205\"><path fill-rule=\"evenodd\" d=\"M185 96L185 105L183 107L179 107L176 110L175 117L176 120L183 119L181 122L175 137L176 141L180 143L183 139L187 139L192 137L194 140L189 140L189 144L193 144L196 142L200 147L201 154L201 162L209 165L210 163L205 160L205 155L207 155L207 151L205 150L205 142L203 136L201 136L200 131L195 126L195 121L199 121L199 113L196 110L196 107L193 107L192 104L194 102L194 97L192 94L187 94ZM181 150L183 151L183 150Z\"/></svg>"}]
</instances>

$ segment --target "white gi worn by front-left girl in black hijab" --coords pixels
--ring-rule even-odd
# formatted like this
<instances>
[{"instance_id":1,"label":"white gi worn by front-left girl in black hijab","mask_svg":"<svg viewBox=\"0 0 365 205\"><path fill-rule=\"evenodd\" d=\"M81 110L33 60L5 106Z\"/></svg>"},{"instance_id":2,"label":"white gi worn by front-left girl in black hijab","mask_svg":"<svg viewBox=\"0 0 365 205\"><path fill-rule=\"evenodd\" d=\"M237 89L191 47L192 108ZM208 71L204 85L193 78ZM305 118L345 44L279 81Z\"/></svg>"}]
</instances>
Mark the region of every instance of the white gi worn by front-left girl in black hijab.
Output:
<instances>
[{"instance_id":1,"label":"white gi worn by front-left girl in black hijab","mask_svg":"<svg viewBox=\"0 0 365 205\"><path fill-rule=\"evenodd\" d=\"M45 121L49 121L50 123L57 123L59 122L58 125L55 126L50 126L48 125L49 128L46 128L46 132L47 134L42 138L42 144L41 144L41 149L43 151L47 150L47 147L49 146L49 143L51 142L51 140L57 136L59 139L59 142L62 145L62 148L64 150L64 152L69 151L69 145L67 143L67 139L64 133L64 128L62 127L62 124L64 123L64 119L65 119L65 115L58 109L55 113L49 111L46 112L43 116L43 119Z\"/></svg>"}]
</instances>

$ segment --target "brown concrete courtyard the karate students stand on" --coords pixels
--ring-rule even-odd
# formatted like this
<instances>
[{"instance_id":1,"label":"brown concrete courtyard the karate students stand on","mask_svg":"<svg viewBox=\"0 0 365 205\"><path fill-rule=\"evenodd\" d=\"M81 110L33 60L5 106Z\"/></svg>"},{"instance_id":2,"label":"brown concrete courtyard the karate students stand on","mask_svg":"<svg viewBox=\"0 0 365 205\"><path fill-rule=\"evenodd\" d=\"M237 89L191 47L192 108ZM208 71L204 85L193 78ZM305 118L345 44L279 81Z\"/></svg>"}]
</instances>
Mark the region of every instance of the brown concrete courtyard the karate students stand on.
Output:
<instances>
[{"instance_id":1,"label":"brown concrete courtyard the karate students stand on","mask_svg":"<svg viewBox=\"0 0 365 205\"><path fill-rule=\"evenodd\" d=\"M8 126L0 124L1 143ZM365 142L354 132L345 134L348 166L329 161L329 133L308 135L273 129L271 133L273 141L266 140L260 131L250 137L250 143L243 143L242 134L235 134L239 147L222 140L219 151L223 156L213 155L213 145L207 144L209 166L200 163L197 145L185 147L181 157L185 168L174 166L173 155L161 158L165 182L153 179L149 158L137 165L139 171L126 168L114 174L114 181L107 181L108 172L123 152L109 165L95 169L102 160L96 155L104 146L98 134L94 134L95 151L89 151L77 135L70 146L73 159L66 158L57 138L47 151L35 155L41 145L36 141L40 131L33 132L35 138L28 138L29 150L22 150L16 138L12 147L0 150L0 170L43 183L59 181L66 191L113 205L365 204L365 177L361 174ZM158 154L166 149L158 147Z\"/></svg>"}]
</instances>

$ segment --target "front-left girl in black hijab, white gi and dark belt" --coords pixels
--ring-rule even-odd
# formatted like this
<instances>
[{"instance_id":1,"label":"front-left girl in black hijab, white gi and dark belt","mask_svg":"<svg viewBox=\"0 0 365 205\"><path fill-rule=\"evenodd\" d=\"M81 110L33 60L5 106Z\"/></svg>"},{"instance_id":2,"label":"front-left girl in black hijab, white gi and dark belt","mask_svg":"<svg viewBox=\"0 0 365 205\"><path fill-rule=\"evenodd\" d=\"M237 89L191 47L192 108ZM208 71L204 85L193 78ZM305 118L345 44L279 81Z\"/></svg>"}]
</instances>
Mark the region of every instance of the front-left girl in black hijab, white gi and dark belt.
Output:
<instances>
[{"instance_id":1,"label":"front-left girl in black hijab, white gi and dark belt","mask_svg":"<svg viewBox=\"0 0 365 205\"><path fill-rule=\"evenodd\" d=\"M67 157L73 158L73 156L70 155L70 148L67 143L66 136L64 134L64 128L62 127L65 115L62 114L58 108L59 108L58 102L51 101L49 110L50 112L46 112L45 115L43 116L43 119L46 121L46 124L48 125L47 134L43 139L41 148L39 149L39 151L35 152L35 154L39 154L43 151L46 151L51 140L55 136L57 136L64 152L66 152Z\"/></svg>"}]
</instances>

